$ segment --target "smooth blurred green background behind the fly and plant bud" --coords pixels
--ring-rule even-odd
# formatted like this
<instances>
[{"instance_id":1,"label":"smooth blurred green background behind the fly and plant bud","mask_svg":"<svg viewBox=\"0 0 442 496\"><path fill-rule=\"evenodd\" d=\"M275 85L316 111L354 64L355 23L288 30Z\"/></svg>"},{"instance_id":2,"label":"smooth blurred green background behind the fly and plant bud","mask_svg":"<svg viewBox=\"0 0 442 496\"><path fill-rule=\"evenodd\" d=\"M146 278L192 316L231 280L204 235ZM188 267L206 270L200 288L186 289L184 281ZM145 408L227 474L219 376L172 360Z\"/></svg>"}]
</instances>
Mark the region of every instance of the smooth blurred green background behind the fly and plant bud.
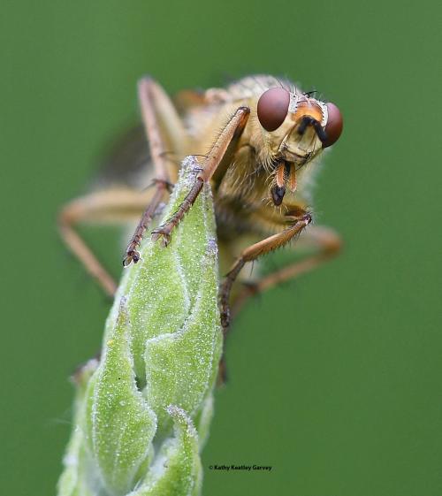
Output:
<instances>
[{"instance_id":1,"label":"smooth blurred green background behind the fly and plant bud","mask_svg":"<svg viewBox=\"0 0 442 496\"><path fill-rule=\"evenodd\" d=\"M55 218L137 121L146 72L171 93L286 75L345 116L315 205L345 251L238 318L204 494L442 494L441 16L379 0L4 1L1 494L55 492L68 377L109 308ZM118 273L113 233L93 239Z\"/></svg>"}]
</instances>

